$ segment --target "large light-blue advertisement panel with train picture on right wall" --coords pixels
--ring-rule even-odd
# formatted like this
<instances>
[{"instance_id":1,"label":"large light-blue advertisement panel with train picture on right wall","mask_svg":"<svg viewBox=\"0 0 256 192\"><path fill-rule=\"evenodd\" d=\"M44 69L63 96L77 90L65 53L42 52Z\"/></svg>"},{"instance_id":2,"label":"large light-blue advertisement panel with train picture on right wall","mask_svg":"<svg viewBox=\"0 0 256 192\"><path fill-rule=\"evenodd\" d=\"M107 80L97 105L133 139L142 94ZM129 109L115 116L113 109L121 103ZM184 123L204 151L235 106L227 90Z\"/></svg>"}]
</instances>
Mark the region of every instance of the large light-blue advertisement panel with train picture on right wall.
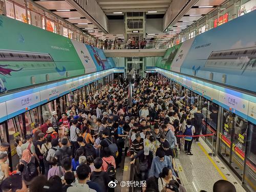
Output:
<instances>
[{"instance_id":1,"label":"large light-blue advertisement panel with train picture on right wall","mask_svg":"<svg viewBox=\"0 0 256 192\"><path fill-rule=\"evenodd\" d=\"M181 66L181 73L209 79L229 86L256 91L256 11L231 20L195 37ZM227 38L228 35L228 38ZM183 42L184 44L184 42ZM238 80L239 79L239 80Z\"/></svg>"}]
</instances>

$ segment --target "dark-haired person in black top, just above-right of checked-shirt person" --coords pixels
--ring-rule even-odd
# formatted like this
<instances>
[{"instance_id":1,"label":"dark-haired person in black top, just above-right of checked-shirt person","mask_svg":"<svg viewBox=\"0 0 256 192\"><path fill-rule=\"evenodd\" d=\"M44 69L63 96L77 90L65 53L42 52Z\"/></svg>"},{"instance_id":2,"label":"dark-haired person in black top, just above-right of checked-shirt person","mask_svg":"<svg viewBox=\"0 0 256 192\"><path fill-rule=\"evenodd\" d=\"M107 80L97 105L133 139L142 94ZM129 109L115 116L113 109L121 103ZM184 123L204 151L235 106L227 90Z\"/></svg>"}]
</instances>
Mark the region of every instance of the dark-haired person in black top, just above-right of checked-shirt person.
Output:
<instances>
[{"instance_id":1,"label":"dark-haired person in black top, just above-right of checked-shirt person","mask_svg":"<svg viewBox=\"0 0 256 192\"><path fill-rule=\"evenodd\" d=\"M60 141L61 147L55 153L55 157L58 160L58 165L62 165L62 161L66 158L72 158L72 151L70 148L70 143L68 138L62 138Z\"/></svg>"}]
</instances>

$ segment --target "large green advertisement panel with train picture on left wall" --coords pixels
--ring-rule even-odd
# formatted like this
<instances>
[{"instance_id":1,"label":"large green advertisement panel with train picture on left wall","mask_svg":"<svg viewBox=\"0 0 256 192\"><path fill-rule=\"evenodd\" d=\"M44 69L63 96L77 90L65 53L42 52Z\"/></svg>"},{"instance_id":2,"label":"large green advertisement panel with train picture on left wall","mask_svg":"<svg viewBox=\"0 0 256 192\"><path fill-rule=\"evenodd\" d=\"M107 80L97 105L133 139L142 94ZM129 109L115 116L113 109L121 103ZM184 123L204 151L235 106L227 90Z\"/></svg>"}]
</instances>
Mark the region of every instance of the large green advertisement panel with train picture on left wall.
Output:
<instances>
[{"instance_id":1,"label":"large green advertisement panel with train picture on left wall","mask_svg":"<svg viewBox=\"0 0 256 192\"><path fill-rule=\"evenodd\" d=\"M81 75L84 67L70 39L0 16L0 92L31 86L50 80ZM18 29L18 31L17 31ZM6 51L11 50L11 51ZM18 55L22 55L20 58ZM22 81L20 79L22 78Z\"/></svg>"}]
</instances>

